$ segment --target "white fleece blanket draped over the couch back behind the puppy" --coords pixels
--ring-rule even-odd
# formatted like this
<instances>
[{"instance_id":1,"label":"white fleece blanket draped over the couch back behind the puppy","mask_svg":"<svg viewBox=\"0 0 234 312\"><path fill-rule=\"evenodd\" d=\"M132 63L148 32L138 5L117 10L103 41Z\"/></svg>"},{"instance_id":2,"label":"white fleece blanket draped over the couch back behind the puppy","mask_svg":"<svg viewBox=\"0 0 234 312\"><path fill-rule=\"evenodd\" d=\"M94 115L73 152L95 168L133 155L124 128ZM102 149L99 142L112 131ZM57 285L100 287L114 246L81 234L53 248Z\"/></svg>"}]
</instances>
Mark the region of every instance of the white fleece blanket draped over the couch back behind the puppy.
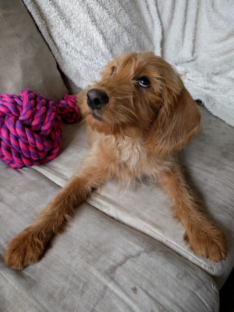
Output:
<instances>
[{"instance_id":1,"label":"white fleece blanket draped over the couch back behind the puppy","mask_svg":"<svg viewBox=\"0 0 234 312\"><path fill-rule=\"evenodd\" d=\"M78 87L98 79L114 55L153 50L177 68L195 99L234 126L234 1L24 2Z\"/></svg>"}]
</instances>

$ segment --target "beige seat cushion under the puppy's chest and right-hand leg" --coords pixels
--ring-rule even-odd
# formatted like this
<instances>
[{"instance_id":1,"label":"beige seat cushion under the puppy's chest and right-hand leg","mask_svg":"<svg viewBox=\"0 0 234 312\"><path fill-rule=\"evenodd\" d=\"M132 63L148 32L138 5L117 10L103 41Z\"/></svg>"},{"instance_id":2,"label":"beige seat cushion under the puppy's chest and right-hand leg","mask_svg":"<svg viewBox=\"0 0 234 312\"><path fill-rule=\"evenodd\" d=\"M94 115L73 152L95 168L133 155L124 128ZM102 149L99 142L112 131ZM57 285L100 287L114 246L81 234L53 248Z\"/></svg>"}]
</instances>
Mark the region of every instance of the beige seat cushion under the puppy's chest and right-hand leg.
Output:
<instances>
[{"instance_id":1,"label":"beige seat cushion under the puppy's chest and right-hand leg","mask_svg":"<svg viewBox=\"0 0 234 312\"><path fill-rule=\"evenodd\" d=\"M147 234L214 276L221 287L234 266L234 128L201 108L203 133L179 155L188 178L204 202L204 210L228 237L226 261L213 263L196 256L183 241L184 229L171 217L171 200L158 187L141 185L119 194L116 182L105 185L88 200L92 206L117 221ZM86 153L82 126L64 129L63 149L52 162L35 167L63 186L80 166Z\"/></svg>"}]
</instances>

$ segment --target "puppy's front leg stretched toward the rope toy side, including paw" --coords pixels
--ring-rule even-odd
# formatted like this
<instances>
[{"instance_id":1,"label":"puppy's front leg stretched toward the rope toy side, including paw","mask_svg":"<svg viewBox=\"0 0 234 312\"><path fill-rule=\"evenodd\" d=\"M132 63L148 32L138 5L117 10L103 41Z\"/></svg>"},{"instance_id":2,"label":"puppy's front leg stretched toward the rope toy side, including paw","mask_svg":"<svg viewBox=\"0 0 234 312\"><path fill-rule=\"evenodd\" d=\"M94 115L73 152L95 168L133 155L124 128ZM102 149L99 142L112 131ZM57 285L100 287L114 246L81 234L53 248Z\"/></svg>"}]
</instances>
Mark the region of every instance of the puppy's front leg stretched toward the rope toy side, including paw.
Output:
<instances>
[{"instance_id":1,"label":"puppy's front leg stretched toward the rope toy side, including paw","mask_svg":"<svg viewBox=\"0 0 234 312\"><path fill-rule=\"evenodd\" d=\"M15 270L39 261L47 244L63 231L78 205L86 200L92 189L98 188L110 177L102 162L86 165L58 195L39 213L35 221L14 237L7 246L5 264Z\"/></svg>"}]
</instances>

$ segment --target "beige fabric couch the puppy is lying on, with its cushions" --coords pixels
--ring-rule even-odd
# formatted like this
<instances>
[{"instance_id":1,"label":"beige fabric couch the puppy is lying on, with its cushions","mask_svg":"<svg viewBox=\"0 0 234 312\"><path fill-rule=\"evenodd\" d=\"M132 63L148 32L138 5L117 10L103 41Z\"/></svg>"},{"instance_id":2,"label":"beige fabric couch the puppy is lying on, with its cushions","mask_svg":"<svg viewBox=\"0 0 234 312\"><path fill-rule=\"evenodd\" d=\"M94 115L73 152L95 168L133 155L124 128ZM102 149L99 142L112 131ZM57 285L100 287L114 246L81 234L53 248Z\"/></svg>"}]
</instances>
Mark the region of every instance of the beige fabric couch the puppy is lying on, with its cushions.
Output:
<instances>
[{"instance_id":1,"label":"beige fabric couch the puppy is lying on, with its cushions","mask_svg":"<svg viewBox=\"0 0 234 312\"><path fill-rule=\"evenodd\" d=\"M0 1L0 93L29 87L58 100L67 92L54 57L19 0ZM0 311L216 312L234 267L234 129L199 107L203 132L178 155L204 211L228 240L225 261L196 256L170 214L170 198L111 181L77 209L45 256L22 271L4 265L9 240L27 227L81 166L85 128L64 124L59 156L14 170L0 162Z\"/></svg>"}]
</instances>

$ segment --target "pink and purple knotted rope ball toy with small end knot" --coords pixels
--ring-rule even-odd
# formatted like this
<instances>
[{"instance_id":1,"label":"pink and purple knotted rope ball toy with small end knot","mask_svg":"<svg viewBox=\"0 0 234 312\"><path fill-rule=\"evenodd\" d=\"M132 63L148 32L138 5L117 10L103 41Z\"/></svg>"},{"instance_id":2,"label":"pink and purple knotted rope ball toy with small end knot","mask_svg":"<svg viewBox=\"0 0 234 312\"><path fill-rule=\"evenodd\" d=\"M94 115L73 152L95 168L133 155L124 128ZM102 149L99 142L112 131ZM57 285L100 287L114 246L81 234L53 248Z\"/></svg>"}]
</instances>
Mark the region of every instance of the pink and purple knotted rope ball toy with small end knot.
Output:
<instances>
[{"instance_id":1,"label":"pink and purple knotted rope ball toy with small end knot","mask_svg":"<svg viewBox=\"0 0 234 312\"><path fill-rule=\"evenodd\" d=\"M61 118L60 118L61 117ZM59 104L30 89L0 94L0 158L11 168L31 167L54 159L62 144L62 121L79 119L77 98Z\"/></svg>"}]
</instances>

